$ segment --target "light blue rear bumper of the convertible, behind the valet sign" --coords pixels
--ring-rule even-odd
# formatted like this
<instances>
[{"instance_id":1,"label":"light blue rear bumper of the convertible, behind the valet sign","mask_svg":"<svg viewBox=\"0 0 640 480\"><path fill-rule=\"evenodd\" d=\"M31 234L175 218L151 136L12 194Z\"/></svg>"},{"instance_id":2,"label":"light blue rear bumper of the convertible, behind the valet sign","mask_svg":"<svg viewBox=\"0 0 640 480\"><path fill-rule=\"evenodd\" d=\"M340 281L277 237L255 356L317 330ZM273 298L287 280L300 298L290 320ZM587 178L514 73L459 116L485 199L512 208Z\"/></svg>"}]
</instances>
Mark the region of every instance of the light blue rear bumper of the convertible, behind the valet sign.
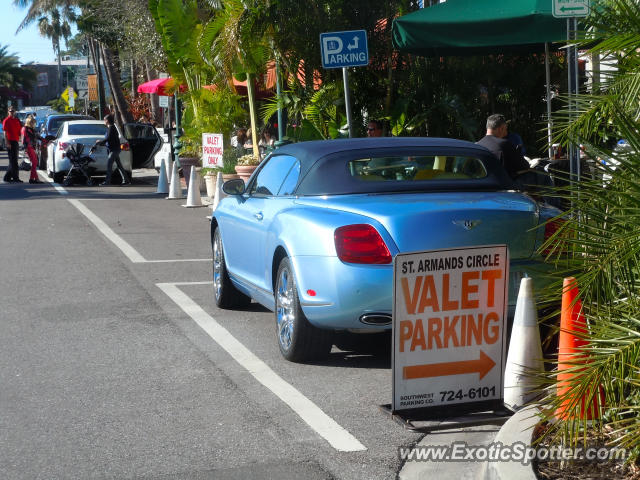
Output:
<instances>
[{"instance_id":1,"label":"light blue rear bumper of the convertible, behind the valet sign","mask_svg":"<svg viewBox=\"0 0 640 480\"><path fill-rule=\"evenodd\" d=\"M330 329L384 330L391 325L368 325L364 314L387 314L393 310L393 266L357 265L337 257L292 257L298 296L307 319L315 326ZM550 266L535 261L512 262L509 272L509 312L515 312L520 280L534 279L536 291L549 283Z\"/></svg>"}]
</instances>

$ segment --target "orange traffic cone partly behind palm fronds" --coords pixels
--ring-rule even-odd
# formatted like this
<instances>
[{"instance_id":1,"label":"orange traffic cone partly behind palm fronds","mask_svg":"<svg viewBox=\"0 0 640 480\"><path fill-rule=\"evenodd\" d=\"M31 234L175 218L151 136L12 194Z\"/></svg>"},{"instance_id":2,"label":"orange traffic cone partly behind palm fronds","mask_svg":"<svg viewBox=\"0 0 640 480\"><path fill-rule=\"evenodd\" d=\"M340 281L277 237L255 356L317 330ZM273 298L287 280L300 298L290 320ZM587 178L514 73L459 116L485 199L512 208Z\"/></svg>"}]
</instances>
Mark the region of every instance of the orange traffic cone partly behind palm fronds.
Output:
<instances>
[{"instance_id":1,"label":"orange traffic cone partly behind palm fronds","mask_svg":"<svg viewBox=\"0 0 640 480\"><path fill-rule=\"evenodd\" d=\"M587 334L587 324L582 314L582 302L578 298L578 286L574 277L564 279L562 285L562 311L560 316L560 338L558 345L558 384L556 394L564 397L562 404L556 409L556 418L571 420L576 418L576 406L580 405L580 418L583 420L594 420L600 418L604 405L604 392L599 387L598 394L587 405L587 399L591 392L585 392L583 397L576 403L575 395L571 391L570 380L575 375L580 375L577 364L580 361L588 361L581 355L576 355L579 349L588 342L585 340ZM573 404L573 408L571 407Z\"/></svg>"}]
</instances>

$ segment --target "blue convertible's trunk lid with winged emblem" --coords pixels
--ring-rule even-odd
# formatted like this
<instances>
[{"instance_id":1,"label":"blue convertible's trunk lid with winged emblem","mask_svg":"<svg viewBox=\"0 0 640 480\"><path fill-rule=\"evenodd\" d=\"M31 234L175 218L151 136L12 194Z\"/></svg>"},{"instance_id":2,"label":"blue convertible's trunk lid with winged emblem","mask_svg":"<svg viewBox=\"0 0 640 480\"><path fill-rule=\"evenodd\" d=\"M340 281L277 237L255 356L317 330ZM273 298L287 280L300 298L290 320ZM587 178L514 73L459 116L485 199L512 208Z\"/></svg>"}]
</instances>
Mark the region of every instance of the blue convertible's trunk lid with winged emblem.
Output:
<instances>
[{"instance_id":1,"label":"blue convertible's trunk lid with winged emblem","mask_svg":"<svg viewBox=\"0 0 640 480\"><path fill-rule=\"evenodd\" d=\"M507 244L515 260L530 257L536 246L536 203L514 192L358 194L296 203L374 218L400 252Z\"/></svg>"}]
</instances>

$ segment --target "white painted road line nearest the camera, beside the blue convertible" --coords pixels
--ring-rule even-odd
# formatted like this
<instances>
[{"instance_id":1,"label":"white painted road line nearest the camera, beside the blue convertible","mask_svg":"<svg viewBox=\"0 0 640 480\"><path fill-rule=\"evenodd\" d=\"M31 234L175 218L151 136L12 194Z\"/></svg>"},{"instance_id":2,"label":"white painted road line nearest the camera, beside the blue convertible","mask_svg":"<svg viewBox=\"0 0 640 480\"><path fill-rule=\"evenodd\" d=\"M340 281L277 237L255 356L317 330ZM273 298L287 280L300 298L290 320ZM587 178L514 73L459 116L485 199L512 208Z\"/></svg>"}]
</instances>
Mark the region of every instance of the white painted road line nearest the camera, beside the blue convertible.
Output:
<instances>
[{"instance_id":1,"label":"white painted road line nearest the camera, beside the blue convertible","mask_svg":"<svg viewBox=\"0 0 640 480\"><path fill-rule=\"evenodd\" d=\"M296 388L285 382L276 372L240 343L231 333L205 312L178 285L203 285L211 282L157 283L171 300L189 315L218 345L253 375L262 385L286 403L307 425L338 451L358 452L366 450L346 429L324 413L320 407Z\"/></svg>"}]
</instances>

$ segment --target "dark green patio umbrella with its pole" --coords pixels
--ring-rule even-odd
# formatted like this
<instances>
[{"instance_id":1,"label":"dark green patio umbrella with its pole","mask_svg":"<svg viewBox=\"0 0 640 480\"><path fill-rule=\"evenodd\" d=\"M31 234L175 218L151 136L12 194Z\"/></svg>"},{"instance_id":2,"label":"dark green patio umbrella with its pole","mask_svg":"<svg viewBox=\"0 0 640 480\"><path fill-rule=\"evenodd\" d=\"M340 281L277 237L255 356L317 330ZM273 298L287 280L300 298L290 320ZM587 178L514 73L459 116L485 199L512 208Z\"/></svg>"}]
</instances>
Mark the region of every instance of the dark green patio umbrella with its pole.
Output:
<instances>
[{"instance_id":1,"label":"dark green patio umbrella with its pole","mask_svg":"<svg viewBox=\"0 0 640 480\"><path fill-rule=\"evenodd\" d=\"M393 44L427 57L544 51L550 121L549 44L567 40L567 21L551 8L552 0L448 0L396 18Z\"/></svg>"}]
</instances>

